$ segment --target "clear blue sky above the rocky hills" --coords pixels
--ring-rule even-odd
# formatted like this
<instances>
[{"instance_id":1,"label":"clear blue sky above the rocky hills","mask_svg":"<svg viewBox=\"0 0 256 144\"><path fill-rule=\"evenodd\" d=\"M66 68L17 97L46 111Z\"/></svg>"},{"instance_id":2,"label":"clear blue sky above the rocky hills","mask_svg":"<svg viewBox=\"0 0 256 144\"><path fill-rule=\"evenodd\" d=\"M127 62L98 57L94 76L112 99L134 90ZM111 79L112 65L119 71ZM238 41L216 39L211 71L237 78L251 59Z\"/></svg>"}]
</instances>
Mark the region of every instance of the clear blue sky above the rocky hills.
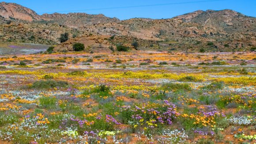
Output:
<instances>
[{"instance_id":1,"label":"clear blue sky above the rocky hills","mask_svg":"<svg viewBox=\"0 0 256 144\"><path fill-rule=\"evenodd\" d=\"M172 18L196 10L232 9L256 17L256 0L5 0L38 14L85 12L120 19Z\"/></svg>"}]
</instances>

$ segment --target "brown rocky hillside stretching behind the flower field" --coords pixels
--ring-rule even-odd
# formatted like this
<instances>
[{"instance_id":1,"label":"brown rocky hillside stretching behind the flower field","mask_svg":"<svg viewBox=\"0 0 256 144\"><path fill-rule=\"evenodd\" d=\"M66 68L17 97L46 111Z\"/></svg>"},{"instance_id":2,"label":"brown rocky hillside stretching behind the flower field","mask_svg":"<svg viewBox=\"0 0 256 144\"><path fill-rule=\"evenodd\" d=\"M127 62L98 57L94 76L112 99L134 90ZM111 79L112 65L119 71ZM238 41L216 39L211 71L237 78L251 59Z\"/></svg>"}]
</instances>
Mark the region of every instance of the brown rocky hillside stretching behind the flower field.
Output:
<instances>
[{"instance_id":1,"label":"brown rocky hillside stretching behind the flower field","mask_svg":"<svg viewBox=\"0 0 256 144\"><path fill-rule=\"evenodd\" d=\"M139 41L139 49L243 51L256 46L256 18L232 10L121 21L86 13L37 15L18 4L2 2L0 15L1 41L56 44L60 33L68 32L73 38L115 35L119 42L114 39L111 44Z\"/></svg>"}]
</instances>

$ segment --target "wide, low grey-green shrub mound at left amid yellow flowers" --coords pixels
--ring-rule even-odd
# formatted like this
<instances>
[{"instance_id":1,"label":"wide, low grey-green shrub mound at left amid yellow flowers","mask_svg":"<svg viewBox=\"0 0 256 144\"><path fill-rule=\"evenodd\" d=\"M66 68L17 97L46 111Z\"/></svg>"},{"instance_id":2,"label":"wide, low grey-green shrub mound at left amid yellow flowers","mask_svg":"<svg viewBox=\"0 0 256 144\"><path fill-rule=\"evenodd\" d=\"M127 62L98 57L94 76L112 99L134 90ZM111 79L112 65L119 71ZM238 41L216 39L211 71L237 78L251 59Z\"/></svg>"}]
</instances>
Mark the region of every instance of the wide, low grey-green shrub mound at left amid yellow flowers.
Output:
<instances>
[{"instance_id":1,"label":"wide, low grey-green shrub mound at left amid yellow flowers","mask_svg":"<svg viewBox=\"0 0 256 144\"><path fill-rule=\"evenodd\" d=\"M56 88L56 87L67 87L68 82L66 81L54 81L54 80L47 80L47 81L35 81L32 84L32 88L37 89L50 89L50 88Z\"/></svg>"}]
</instances>

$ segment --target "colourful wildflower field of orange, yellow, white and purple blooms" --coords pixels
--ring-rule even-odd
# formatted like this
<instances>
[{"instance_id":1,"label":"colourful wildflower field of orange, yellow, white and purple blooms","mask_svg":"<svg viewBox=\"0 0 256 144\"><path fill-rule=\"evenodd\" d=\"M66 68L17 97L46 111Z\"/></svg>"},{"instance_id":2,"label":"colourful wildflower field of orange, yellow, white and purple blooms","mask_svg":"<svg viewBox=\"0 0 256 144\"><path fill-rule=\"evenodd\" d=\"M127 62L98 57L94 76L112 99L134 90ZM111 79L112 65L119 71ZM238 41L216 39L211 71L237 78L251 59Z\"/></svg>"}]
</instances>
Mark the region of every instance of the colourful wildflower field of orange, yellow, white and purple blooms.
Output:
<instances>
[{"instance_id":1,"label":"colourful wildflower field of orange, yellow, white and purple blooms","mask_svg":"<svg viewBox=\"0 0 256 144\"><path fill-rule=\"evenodd\" d=\"M254 144L255 52L0 55L0 144Z\"/></svg>"}]
</instances>

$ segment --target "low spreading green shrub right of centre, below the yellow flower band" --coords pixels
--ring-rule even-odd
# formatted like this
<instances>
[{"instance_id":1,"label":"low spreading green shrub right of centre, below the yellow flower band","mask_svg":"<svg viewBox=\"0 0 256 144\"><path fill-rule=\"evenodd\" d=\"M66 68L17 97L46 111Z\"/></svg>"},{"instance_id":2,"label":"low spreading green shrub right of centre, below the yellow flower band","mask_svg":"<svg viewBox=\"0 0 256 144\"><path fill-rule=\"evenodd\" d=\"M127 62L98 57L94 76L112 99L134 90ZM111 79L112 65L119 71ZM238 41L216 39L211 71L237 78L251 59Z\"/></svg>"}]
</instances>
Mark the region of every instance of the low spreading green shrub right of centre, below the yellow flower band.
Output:
<instances>
[{"instance_id":1,"label":"low spreading green shrub right of centre, below the yellow flower band","mask_svg":"<svg viewBox=\"0 0 256 144\"><path fill-rule=\"evenodd\" d=\"M179 90L191 90L190 85L187 83L180 84L180 83L166 83L162 85L162 88L164 90L173 90L173 91L179 91Z\"/></svg>"}]
</instances>

